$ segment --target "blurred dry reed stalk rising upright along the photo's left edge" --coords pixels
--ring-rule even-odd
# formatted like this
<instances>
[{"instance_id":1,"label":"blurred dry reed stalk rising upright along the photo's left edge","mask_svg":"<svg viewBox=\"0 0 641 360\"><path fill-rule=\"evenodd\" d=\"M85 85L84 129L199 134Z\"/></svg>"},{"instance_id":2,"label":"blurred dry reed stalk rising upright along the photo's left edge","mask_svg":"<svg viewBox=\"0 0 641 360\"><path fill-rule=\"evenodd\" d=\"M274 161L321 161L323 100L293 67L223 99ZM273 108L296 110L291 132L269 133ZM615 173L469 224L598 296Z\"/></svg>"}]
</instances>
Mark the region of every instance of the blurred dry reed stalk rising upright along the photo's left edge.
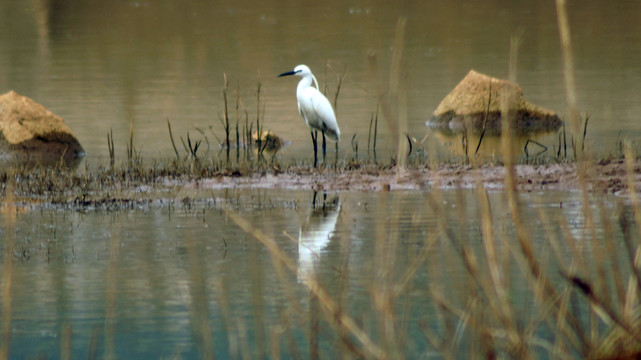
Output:
<instances>
[{"instance_id":1,"label":"blurred dry reed stalk rising upright along the photo's left edge","mask_svg":"<svg viewBox=\"0 0 641 360\"><path fill-rule=\"evenodd\" d=\"M0 345L0 360L9 359L11 345L11 309L13 287L13 248L15 244L17 210L14 195L13 175L9 173L3 207L6 211L4 227L4 254L2 259L2 344Z\"/></svg>"}]
</instances>

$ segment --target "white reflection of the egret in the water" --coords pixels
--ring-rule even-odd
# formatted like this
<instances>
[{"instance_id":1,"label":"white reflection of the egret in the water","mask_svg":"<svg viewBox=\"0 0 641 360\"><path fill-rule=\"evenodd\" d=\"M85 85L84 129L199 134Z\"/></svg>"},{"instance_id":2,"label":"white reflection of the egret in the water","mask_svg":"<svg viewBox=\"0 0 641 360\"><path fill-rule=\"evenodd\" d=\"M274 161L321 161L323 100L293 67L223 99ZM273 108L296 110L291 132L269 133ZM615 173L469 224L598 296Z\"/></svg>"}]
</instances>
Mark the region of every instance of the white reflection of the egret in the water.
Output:
<instances>
[{"instance_id":1,"label":"white reflection of the egret in the water","mask_svg":"<svg viewBox=\"0 0 641 360\"><path fill-rule=\"evenodd\" d=\"M323 193L317 203L318 193L314 191L313 208L298 235L298 281L305 282L316 276L321 262L321 252L329 245L330 238L340 213L340 198L327 198Z\"/></svg>"}]
</instances>

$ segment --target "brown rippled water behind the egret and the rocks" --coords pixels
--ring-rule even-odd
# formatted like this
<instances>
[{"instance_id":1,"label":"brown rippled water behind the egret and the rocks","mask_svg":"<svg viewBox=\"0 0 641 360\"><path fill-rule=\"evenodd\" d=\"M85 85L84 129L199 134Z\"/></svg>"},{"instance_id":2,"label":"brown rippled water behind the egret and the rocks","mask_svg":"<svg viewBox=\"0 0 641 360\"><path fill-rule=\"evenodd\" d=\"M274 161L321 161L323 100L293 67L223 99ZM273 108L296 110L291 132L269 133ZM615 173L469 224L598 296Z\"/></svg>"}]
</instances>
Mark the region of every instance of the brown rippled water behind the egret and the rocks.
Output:
<instances>
[{"instance_id":1,"label":"brown rippled water behind the egret and the rocks","mask_svg":"<svg viewBox=\"0 0 641 360\"><path fill-rule=\"evenodd\" d=\"M639 135L641 27L638 1L569 3L577 96L590 115L588 138L597 152L614 152L620 138ZM526 99L566 116L554 2L273 1L0 1L0 92L15 90L62 116L87 150L88 161L108 157L113 129L125 156L130 122L146 158L173 156L175 136L222 138L223 74L250 121L262 82L265 129L291 141L283 158L311 154L299 118L295 80L276 75L309 65L330 97L345 69L338 119L351 153L352 136L364 149L376 109L374 52L388 77L397 19L407 18L403 74L409 133L424 122L470 69L506 78L510 37L521 34L517 80ZM336 72L326 73L329 63ZM235 95L232 96L235 99ZM235 100L231 116L235 121ZM244 119L244 112L240 112ZM392 139L381 125L379 154ZM178 144L180 146L180 144ZM361 151L362 153L362 151ZM383 156L387 158L387 156Z\"/></svg>"}]
</instances>

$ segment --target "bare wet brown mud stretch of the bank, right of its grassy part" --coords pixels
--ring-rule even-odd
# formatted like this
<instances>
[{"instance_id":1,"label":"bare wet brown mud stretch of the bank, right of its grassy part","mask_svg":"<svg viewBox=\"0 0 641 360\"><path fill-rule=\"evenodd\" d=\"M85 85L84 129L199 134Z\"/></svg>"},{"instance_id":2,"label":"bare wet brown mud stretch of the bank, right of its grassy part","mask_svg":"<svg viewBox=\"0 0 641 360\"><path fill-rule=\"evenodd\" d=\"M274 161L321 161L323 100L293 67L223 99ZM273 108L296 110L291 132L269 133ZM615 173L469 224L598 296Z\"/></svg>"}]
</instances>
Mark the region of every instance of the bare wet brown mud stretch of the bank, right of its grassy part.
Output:
<instances>
[{"instance_id":1,"label":"bare wet brown mud stretch of the bank, right of its grassy part","mask_svg":"<svg viewBox=\"0 0 641 360\"><path fill-rule=\"evenodd\" d=\"M599 193L627 194L628 175L622 160L584 164L587 188ZM520 191L581 190L577 164L517 165ZM641 162L634 165L633 182L641 191ZM481 182L490 189L503 189L505 168L499 165L472 167L444 165L438 169L414 168L400 174L396 169L363 167L349 171L328 169L298 173L296 170L263 176L218 176L185 183L192 189L283 189L326 191L429 190L431 188L473 188ZM169 181L172 185L179 182Z\"/></svg>"}]
</instances>

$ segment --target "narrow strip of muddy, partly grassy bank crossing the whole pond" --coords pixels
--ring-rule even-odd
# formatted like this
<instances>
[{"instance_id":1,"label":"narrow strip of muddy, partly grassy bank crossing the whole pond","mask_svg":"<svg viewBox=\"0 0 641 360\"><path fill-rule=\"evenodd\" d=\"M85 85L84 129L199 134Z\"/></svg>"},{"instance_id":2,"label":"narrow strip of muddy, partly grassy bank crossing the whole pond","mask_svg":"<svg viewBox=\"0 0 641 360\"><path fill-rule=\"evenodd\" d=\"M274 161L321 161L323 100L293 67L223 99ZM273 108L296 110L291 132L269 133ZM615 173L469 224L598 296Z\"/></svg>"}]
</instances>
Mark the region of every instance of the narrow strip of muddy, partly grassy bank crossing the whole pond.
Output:
<instances>
[{"instance_id":1,"label":"narrow strip of muddy, partly grassy bank crossing the whole pond","mask_svg":"<svg viewBox=\"0 0 641 360\"><path fill-rule=\"evenodd\" d=\"M641 191L641 161L628 175L623 160L583 164L517 165L519 191L587 189L598 194L628 196L628 184ZM579 176L579 170L582 174ZM203 168L158 168L65 170L32 169L0 174L2 201L25 208L64 207L75 210L118 210L154 206L189 206L192 201L215 200L218 191L252 189L297 191L430 191L505 186L505 168L500 165L415 166L398 173L393 166L360 165L350 168L256 170ZM585 179L582 183L581 179Z\"/></svg>"}]
</instances>

